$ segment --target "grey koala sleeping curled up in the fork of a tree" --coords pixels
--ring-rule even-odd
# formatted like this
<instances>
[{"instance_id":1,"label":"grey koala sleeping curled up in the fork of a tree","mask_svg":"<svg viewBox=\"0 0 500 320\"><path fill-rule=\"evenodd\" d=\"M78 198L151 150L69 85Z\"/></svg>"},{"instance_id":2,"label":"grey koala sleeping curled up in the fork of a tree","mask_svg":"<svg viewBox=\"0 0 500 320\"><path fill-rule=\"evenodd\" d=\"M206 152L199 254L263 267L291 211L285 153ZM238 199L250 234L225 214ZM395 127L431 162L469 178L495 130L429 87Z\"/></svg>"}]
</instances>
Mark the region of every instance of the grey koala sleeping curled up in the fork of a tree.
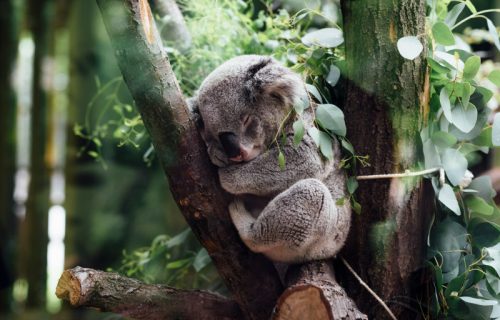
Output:
<instances>
[{"instance_id":1,"label":"grey koala sleeping curled up in the fork of a tree","mask_svg":"<svg viewBox=\"0 0 500 320\"><path fill-rule=\"evenodd\" d=\"M333 257L350 227L349 201L336 204L346 196L338 142L333 161L321 156L307 133L293 145L291 110L304 99L309 97L297 74L272 58L245 55L215 69L190 101L221 186L233 195L229 212L241 239L275 262ZM312 107L303 119L307 132ZM286 143L278 149L280 128Z\"/></svg>"}]
</instances>

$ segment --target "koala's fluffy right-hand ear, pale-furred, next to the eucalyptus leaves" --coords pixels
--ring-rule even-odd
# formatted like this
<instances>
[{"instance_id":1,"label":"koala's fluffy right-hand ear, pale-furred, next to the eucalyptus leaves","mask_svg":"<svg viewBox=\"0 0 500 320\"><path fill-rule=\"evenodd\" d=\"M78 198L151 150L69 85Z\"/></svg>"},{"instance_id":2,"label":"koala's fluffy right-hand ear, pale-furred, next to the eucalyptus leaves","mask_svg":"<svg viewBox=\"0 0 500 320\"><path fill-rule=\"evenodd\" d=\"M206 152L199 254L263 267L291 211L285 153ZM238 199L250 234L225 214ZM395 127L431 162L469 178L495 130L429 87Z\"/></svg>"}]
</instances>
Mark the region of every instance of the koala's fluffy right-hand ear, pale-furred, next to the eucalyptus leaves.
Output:
<instances>
[{"instance_id":1,"label":"koala's fluffy right-hand ear, pale-furred, next to the eucalyptus leaves","mask_svg":"<svg viewBox=\"0 0 500 320\"><path fill-rule=\"evenodd\" d=\"M267 57L248 68L245 90L252 101L272 99L284 106L307 99L300 76Z\"/></svg>"}]
</instances>

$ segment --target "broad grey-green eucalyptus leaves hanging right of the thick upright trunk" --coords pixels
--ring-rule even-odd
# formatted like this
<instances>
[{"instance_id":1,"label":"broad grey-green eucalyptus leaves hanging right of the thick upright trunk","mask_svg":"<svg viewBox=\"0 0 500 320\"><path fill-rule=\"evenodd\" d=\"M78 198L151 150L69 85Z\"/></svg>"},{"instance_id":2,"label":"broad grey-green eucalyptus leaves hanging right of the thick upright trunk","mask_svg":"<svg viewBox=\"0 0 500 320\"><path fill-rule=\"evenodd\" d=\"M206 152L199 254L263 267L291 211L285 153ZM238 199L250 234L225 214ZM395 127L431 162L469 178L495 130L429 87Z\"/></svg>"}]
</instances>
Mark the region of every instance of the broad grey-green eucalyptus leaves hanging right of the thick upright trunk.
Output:
<instances>
[{"instance_id":1,"label":"broad grey-green eucalyptus leaves hanging right of the thick upright trunk","mask_svg":"<svg viewBox=\"0 0 500 320\"><path fill-rule=\"evenodd\" d=\"M492 125L488 122L493 92L479 79L481 58L452 31L470 19L484 19L491 42L500 49L497 30L484 16L500 10L477 12L468 0L429 0L428 7L430 105L428 125L421 131L424 166L443 168L446 174L446 179L431 178L437 202L428 239L429 268L434 274L429 314L498 318L500 209L493 201L490 178L472 179L468 168L475 154L499 145L500 123L498 114ZM457 22L466 10L470 14ZM398 41L398 49L404 58L414 59L423 46L418 36L409 36ZM488 76L496 86L497 72Z\"/></svg>"}]
</instances>

